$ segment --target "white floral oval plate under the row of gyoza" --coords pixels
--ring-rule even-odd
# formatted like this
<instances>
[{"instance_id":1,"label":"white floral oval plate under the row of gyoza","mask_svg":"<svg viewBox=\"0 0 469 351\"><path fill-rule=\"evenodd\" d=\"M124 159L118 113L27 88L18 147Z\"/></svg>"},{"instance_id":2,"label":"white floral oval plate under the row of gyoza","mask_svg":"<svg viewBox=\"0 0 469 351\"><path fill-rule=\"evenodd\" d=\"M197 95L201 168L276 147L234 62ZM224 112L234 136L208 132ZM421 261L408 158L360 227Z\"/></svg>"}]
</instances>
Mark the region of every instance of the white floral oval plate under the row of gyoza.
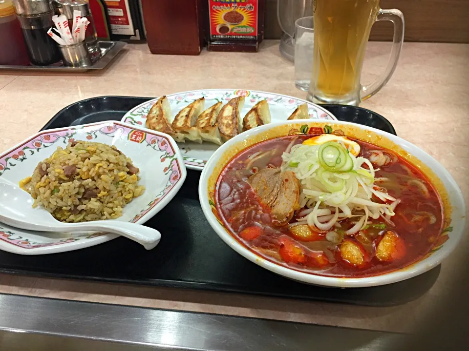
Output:
<instances>
[{"instance_id":1,"label":"white floral oval plate under the row of gyoza","mask_svg":"<svg viewBox=\"0 0 469 351\"><path fill-rule=\"evenodd\" d=\"M171 118L174 118L180 110L198 98L204 97L205 107L209 108L218 101L227 102L228 100L237 96L245 97L244 107L241 111L241 117L244 117L244 115L246 115L246 113L254 105L256 105L257 102L266 99L269 103L272 122L286 120L293 113L293 111L295 111L298 105L303 103L308 104L308 113L311 118L337 120L337 118L334 117L329 111L306 100L256 90L210 89L193 90L167 95L171 106ZM125 116L122 118L122 121L133 125L145 126L145 120L147 118L148 112L157 99L158 98L154 98L134 107L125 114ZM203 142L202 144L198 144L192 141L178 143L178 145L183 153L184 162L186 163L187 168L197 171L202 171L207 160L219 147L218 145L210 142Z\"/></svg>"}]
</instances>

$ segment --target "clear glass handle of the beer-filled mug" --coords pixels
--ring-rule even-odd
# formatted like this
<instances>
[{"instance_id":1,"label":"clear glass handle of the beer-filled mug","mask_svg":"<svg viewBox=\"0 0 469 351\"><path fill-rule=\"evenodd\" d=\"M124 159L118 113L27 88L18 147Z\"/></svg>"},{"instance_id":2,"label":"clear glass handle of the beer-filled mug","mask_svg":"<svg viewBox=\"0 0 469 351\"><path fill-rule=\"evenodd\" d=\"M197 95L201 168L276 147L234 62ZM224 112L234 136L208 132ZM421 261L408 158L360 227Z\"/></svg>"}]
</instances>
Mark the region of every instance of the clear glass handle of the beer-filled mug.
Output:
<instances>
[{"instance_id":1,"label":"clear glass handle of the beer-filled mug","mask_svg":"<svg viewBox=\"0 0 469 351\"><path fill-rule=\"evenodd\" d=\"M389 58L389 62L387 63L387 67L383 75L375 82L369 85L362 86L362 90L360 93L361 101L364 101L367 98L370 98L375 95L378 91L381 90L381 88L384 87L384 84L389 81L396 69L397 61L399 59L399 55L401 54L402 44L404 43L404 14L397 9L380 9L380 11L378 12L378 16L376 16L376 21L382 20L388 20L394 24L394 37L391 49L391 56Z\"/></svg>"}]
</instances>

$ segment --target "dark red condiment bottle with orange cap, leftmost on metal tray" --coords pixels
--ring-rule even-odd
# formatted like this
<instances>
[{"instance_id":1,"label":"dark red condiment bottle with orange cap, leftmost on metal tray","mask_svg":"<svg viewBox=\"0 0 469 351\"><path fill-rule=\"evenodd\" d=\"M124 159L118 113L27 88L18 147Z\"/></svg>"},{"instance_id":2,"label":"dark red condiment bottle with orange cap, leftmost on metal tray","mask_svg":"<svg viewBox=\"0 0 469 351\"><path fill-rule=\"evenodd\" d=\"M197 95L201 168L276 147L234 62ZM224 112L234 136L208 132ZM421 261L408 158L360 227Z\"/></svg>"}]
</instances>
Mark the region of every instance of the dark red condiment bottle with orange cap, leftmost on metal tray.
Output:
<instances>
[{"instance_id":1,"label":"dark red condiment bottle with orange cap, leftmost on metal tray","mask_svg":"<svg viewBox=\"0 0 469 351\"><path fill-rule=\"evenodd\" d=\"M0 65L29 65L20 22L11 0L0 0Z\"/></svg>"}]
</instances>

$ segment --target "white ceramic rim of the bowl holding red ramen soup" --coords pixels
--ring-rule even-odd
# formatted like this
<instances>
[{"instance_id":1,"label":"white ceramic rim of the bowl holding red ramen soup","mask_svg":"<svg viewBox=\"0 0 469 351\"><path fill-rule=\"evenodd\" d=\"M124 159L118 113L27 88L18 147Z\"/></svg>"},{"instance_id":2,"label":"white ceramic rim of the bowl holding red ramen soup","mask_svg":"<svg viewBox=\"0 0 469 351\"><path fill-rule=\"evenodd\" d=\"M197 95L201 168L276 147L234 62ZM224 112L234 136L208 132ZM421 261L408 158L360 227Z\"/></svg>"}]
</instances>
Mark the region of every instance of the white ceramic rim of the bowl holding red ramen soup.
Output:
<instances>
[{"instance_id":1,"label":"white ceramic rim of the bowl holding red ramen soup","mask_svg":"<svg viewBox=\"0 0 469 351\"><path fill-rule=\"evenodd\" d=\"M441 196L444 208L444 229L435 239L432 250L419 261L389 273L367 277L331 277L303 273L268 261L248 250L223 225L214 204L215 184L226 164L239 152L257 142L287 135L333 133L360 139L371 144L393 150L405 160L416 165L431 181ZM320 120L298 120L271 123L234 137L218 150L207 162L199 182L200 204L214 231L237 253L257 265L285 277L315 285L351 288L384 285L422 274L438 265L461 239L465 226L465 203L461 191L448 173L433 157L404 139L386 132L350 122L327 122Z\"/></svg>"}]
</instances>

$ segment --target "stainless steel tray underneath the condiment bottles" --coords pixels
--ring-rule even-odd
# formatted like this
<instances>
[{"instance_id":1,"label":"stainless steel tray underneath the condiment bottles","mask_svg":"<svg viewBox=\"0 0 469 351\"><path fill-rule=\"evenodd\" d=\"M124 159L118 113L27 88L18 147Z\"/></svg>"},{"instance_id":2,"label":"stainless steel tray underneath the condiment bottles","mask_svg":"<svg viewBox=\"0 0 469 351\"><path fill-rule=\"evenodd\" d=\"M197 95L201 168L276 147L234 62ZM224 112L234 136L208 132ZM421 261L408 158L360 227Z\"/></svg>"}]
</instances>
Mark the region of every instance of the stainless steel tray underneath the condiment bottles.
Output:
<instances>
[{"instance_id":1,"label":"stainless steel tray underneath the condiment bottles","mask_svg":"<svg viewBox=\"0 0 469 351\"><path fill-rule=\"evenodd\" d=\"M123 41L99 41L101 57L89 67L67 67L67 66L8 66L0 65L0 70L27 70L45 72L86 72L88 70L101 70L114 59L117 54L127 45Z\"/></svg>"}]
</instances>

